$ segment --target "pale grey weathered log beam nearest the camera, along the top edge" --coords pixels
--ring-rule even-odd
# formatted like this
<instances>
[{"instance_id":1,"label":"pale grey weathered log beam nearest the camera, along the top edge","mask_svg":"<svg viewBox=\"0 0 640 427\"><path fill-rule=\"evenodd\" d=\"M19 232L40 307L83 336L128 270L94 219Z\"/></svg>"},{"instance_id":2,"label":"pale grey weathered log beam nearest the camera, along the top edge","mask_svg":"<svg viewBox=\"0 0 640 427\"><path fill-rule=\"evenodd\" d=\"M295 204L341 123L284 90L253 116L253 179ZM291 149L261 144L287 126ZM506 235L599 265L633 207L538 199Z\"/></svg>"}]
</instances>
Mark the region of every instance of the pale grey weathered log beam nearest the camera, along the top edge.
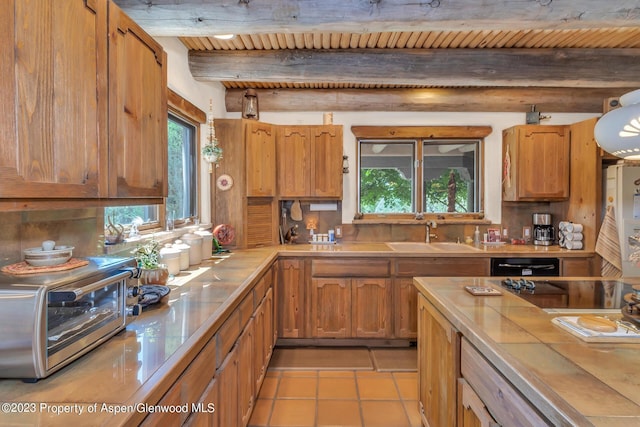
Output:
<instances>
[{"instance_id":1,"label":"pale grey weathered log beam nearest the camera, along the top edge","mask_svg":"<svg viewBox=\"0 0 640 427\"><path fill-rule=\"evenodd\" d=\"M629 0L115 0L115 3L153 36L640 25L640 8Z\"/></svg>"}]
</instances>

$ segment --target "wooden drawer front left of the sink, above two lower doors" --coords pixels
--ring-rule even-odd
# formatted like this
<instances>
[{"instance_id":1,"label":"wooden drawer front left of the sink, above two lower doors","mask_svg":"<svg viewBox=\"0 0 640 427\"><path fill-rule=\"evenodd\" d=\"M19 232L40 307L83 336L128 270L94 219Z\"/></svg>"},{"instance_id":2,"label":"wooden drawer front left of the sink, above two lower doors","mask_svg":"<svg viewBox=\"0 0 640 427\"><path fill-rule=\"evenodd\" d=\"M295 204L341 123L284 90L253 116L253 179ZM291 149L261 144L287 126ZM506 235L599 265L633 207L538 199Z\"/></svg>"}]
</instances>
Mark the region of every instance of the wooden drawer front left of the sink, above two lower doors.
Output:
<instances>
[{"instance_id":1,"label":"wooden drawer front left of the sink, above two lower doors","mask_svg":"<svg viewBox=\"0 0 640 427\"><path fill-rule=\"evenodd\" d=\"M389 277L390 261L383 259L314 259L314 277Z\"/></svg>"}]
</instances>

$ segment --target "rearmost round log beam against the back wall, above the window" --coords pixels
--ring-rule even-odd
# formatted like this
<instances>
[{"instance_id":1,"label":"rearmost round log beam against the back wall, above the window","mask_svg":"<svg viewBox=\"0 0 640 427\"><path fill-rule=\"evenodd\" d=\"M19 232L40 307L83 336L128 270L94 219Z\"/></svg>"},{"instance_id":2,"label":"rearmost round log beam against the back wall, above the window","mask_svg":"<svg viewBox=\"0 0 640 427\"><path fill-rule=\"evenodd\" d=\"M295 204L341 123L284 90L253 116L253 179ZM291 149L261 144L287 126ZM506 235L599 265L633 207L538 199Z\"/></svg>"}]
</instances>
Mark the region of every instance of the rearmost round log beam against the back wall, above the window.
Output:
<instances>
[{"instance_id":1,"label":"rearmost round log beam against the back wall, above the window","mask_svg":"<svg viewBox=\"0 0 640 427\"><path fill-rule=\"evenodd\" d=\"M278 89L257 90L261 111L442 111L600 113L629 88ZM243 90L227 90L226 110L242 110Z\"/></svg>"}]
</instances>

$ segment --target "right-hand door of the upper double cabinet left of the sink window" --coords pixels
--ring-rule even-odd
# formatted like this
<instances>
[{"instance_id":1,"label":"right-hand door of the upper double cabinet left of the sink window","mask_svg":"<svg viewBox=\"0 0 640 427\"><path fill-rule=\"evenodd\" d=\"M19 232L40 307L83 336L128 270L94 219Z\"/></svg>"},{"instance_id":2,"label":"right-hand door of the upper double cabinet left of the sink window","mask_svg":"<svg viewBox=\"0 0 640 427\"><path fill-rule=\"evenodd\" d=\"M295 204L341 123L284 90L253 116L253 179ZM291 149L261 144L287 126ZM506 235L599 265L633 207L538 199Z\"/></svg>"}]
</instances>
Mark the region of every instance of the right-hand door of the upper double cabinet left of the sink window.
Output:
<instances>
[{"instance_id":1,"label":"right-hand door of the upper double cabinet left of the sink window","mask_svg":"<svg viewBox=\"0 0 640 427\"><path fill-rule=\"evenodd\" d=\"M311 195L342 199L342 126L313 126Z\"/></svg>"}]
</instances>

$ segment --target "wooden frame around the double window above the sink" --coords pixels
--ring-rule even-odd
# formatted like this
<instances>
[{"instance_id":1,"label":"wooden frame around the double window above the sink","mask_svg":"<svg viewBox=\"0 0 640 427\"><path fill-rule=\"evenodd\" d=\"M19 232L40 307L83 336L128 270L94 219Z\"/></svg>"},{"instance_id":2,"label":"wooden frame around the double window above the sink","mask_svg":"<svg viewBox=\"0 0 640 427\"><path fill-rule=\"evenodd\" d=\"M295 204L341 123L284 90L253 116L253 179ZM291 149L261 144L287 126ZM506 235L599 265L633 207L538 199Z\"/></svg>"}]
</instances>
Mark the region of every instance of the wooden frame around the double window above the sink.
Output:
<instances>
[{"instance_id":1,"label":"wooden frame around the double window above the sink","mask_svg":"<svg viewBox=\"0 0 640 427\"><path fill-rule=\"evenodd\" d=\"M356 151L357 151L357 191L356 191L356 209L360 209L360 142L381 140L381 141L415 141L415 153L416 159L419 159L419 167L414 164L416 169L414 175L416 182L415 194L413 195L413 203L416 207L420 207L424 204L423 200L423 146L424 141L453 141L453 140L478 140L479 150L477 159L478 163L478 192L476 196L479 203L479 212L471 213L457 213L457 212L437 212L437 213L424 213L422 212L422 218L424 220L452 220L452 221L470 221L484 219L484 175L485 175L485 138L491 134L491 126L352 126L351 131L356 137ZM415 162L414 162L415 163ZM382 223L382 222L407 222L415 223L418 212L413 213L368 213L364 214L357 212L354 217L354 223Z\"/></svg>"}]
</instances>

